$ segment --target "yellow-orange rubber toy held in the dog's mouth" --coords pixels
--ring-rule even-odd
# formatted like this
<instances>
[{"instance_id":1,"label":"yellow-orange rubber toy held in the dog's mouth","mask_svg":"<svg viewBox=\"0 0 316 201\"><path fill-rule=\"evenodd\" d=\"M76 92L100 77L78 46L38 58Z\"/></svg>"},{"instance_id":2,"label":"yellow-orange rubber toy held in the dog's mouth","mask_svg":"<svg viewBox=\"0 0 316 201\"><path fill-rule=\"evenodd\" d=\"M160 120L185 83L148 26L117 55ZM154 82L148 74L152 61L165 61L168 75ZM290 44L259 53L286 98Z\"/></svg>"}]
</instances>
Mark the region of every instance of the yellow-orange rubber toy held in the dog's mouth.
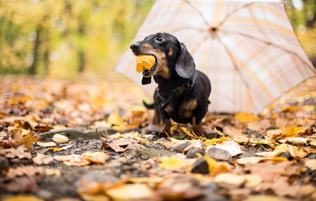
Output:
<instances>
[{"instance_id":1,"label":"yellow-orange rubber toy held in the dog's mouth","mask_svg":"<svg viewBox=\"0 0 316 201\"><path fill-rule=\"evenodd\" d=\"M156 69L156 58L154 55L137 55L136 71L142 72L143 76L150 77Z\"/></svg>"}]
</instances>

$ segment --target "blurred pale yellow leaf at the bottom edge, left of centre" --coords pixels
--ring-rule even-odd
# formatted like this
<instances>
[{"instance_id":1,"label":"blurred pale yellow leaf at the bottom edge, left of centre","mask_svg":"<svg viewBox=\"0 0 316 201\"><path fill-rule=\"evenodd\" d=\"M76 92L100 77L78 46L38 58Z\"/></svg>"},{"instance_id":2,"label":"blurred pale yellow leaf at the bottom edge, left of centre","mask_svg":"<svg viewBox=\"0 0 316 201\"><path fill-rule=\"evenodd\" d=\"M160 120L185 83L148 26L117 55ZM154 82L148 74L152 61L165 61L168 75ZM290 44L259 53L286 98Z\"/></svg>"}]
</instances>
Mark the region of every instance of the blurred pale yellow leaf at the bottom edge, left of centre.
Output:
<instances>
[{"instance_id":1,"label":"blurred pale yellow leaf at the bottom edge, left of centre","mask_svg":"<svg viewBox=\"0 0 316 201\"><path fill-rule=\"evenodd\" d=\"M145 200L153 196L153 191L146 184L141 183L123 184L106 189L105 193L113 200Z\"/></svg>"}]
</instances>

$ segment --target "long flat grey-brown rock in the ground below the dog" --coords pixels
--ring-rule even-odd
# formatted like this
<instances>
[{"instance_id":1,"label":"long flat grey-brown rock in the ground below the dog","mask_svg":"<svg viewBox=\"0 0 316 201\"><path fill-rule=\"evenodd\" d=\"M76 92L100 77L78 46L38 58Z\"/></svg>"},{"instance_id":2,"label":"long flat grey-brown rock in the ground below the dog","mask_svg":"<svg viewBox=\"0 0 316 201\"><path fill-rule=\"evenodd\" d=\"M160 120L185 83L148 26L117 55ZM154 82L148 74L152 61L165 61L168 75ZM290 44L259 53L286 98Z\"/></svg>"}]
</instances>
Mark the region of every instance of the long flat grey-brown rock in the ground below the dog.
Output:
<instances>
[{"instance_id":1,"label":"long flat grey-brown rock in the ground below the dog","mask_svg":"<svg viewBox=\"0 0 316 201\"><path fill-rule=\"evenodd\" d=\"M154 148L140 147L137 145L128 145L124 153L140 154L144 158L157 158L162 156L171 156L174 153L167 150L159 150Z\"/></svg>"}]
</instances>

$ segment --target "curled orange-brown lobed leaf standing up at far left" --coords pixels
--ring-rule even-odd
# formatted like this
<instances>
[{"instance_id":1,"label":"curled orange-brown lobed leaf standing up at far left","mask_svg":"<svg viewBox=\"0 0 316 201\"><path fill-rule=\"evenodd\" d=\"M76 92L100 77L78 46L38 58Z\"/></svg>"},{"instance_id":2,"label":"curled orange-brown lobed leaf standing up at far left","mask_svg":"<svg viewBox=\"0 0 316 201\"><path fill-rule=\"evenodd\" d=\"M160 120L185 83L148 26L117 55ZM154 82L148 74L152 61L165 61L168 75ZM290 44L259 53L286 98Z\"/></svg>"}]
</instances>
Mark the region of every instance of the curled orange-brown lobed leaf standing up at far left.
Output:
<instances>
[{"instance_id":1,"label":"curled orange-brown lobed leaf standing up at far left","mask_svg":"<svg viewBox=\"0 0 316 201\"><path fill-rule=\"evenodd\" d=\"M15 133L15 138L12 139L11 136L9 136L8 139L8 143L7 143L7 147L9 146L13 146L13 147L17 147L19 145L25 145L29 150L32 150L32 146L31 144L33 142L37 142L39 141L42 137L37 136L37 137L33 137L33 132L30 131L27 135L25 135L24 137L22 136L21 133L21 129L19 129L16 133Z\"/></svg>"}]
</instances>

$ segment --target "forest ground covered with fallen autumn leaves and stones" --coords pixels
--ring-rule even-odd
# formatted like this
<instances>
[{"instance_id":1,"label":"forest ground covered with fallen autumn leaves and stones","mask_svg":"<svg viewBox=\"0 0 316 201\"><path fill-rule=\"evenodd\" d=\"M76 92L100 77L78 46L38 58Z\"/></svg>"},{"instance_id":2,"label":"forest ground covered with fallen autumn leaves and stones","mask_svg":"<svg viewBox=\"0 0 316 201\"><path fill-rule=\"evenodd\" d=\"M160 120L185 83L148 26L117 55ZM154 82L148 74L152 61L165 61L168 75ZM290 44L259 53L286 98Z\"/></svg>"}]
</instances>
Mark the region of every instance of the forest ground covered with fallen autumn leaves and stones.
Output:
<instances>
[{"instance_id":1,"label":"forest ground covered with fallen autumn leaves and stones","mask_svg":"<svg viewBox=\"0 0 316 201\"><path fill-rule=\"evenodd\" d=\"M315 200L316 79L259 116L207 114L208 139L126 84L0 79L0 200Z\"/></svg>"}]
</instances>

